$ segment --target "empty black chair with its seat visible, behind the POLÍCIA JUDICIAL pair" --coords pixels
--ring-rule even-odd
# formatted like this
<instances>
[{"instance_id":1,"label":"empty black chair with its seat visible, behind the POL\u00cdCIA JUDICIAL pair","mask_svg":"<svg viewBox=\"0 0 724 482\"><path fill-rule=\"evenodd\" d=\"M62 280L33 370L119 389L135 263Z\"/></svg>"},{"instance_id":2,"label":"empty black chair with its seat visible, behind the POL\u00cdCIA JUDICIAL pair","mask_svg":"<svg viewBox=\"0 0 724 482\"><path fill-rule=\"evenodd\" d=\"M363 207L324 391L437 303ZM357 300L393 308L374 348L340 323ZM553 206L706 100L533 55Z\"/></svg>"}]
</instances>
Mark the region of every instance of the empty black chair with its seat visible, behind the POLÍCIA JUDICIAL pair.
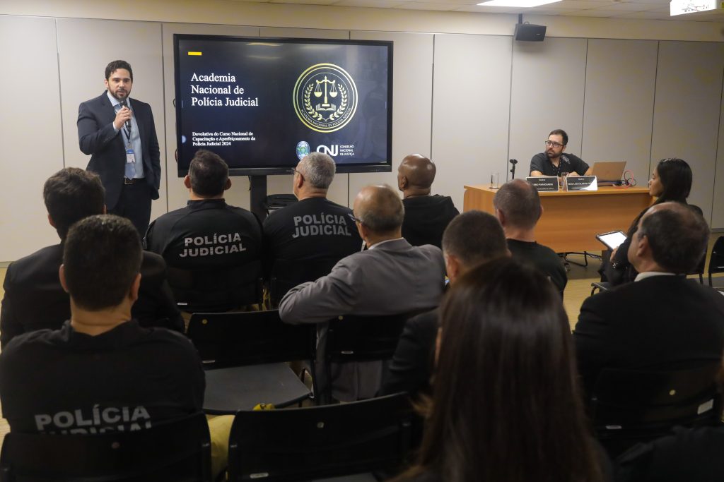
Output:
<instances>
[{"instance_id":1,"label":"empty black chair with its seat visible, behind the POL\u00cdCIA JUDICIAL pair","mask_svg":"<svg viewBox=\"0 0 724 482\"><path fill-rule=\"evenodd\" d=\"M283 407L312 393L287 365L314 372L316 326L285 324L279 311L194 313L188 337L206 368L206 413L235 413L258 403Z\"/></svg>"}]
</instances>

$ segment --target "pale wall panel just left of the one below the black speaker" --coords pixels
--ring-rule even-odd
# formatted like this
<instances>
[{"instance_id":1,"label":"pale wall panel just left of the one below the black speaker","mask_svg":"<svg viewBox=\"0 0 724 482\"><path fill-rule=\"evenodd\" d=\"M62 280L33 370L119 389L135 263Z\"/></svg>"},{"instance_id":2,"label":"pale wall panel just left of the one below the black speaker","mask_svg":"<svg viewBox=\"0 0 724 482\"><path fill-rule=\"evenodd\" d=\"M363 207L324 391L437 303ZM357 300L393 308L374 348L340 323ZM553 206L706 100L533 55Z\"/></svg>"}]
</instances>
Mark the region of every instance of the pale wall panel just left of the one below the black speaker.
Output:
<instances>
[{"instance_id":1,"label":"pale wall panel just left of the one below the black speaker","mask_svg":"<svg viewBox=\"0 0 724 482\"><path fill-rule=\"evenodd\" d=\"M464 185L505 182L512 55L511 37L435 35L433 190L460 211Z\"/></svg>"}]
</instances>

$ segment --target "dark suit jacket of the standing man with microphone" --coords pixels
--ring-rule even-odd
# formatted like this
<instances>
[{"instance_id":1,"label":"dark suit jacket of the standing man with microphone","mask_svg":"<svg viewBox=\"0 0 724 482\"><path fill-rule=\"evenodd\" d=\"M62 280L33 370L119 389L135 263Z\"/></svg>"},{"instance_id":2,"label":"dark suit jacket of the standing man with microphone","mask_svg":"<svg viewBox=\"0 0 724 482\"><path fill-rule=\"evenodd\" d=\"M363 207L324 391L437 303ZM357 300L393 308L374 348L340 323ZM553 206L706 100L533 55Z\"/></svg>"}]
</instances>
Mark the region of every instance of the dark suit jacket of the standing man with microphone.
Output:
<instances>
[{"instance_id":1,"label":"dark suit jacket of the standing man with microphone","mask_svg":"<svg viewBox=\"0 0 724 482\"><path fill-rule=\"evenodd\" d=\"M143 148L143 176L151 191L151 199L159 199L161 161L159 139L153 124L151 106L137 99L130 99L138 124L138 134ZM106 188L106 207L112 210L118 202L125 175L126 154L123 136L113 128L116 113L106 92L86 100L78 108L78 142L83 154L90 154L88 171L101 176Z\"/></svg>"}]
</instances>

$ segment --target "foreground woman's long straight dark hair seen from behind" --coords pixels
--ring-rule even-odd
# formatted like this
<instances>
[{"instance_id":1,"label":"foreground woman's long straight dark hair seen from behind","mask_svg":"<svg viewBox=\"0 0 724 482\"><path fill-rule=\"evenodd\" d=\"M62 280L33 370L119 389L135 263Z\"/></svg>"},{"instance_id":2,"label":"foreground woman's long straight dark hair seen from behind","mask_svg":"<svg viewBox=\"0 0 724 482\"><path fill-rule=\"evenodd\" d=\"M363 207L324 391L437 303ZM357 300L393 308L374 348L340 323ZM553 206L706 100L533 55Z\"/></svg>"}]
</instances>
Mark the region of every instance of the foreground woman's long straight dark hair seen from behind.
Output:
<instances>
[{"instance_id":1,"label":"foreground woman's long straight dark hair seen from behind","mask_svg":"<svg viewBox=\"0 0 724 482\"><path fill-rule=\"evenodd\" d=\"M397 481L598 482L560 294L510 258L460 277L441 309L417 465Z\"/></svg>"}]
</instances>

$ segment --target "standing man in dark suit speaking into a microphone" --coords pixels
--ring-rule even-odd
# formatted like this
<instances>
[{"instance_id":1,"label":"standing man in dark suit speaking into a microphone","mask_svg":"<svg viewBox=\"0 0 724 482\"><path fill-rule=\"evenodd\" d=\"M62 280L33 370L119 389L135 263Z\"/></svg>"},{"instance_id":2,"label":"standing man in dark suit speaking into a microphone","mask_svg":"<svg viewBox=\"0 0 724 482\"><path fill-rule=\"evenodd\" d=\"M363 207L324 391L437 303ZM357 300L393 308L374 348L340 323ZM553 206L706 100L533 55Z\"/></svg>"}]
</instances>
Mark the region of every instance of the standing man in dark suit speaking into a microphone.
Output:
<instances>
[{"instance_id":1,"label":"standing man in dark suit speaking into a microphone","mask_svg":"<svg viewBox=\"0 0 724 482\"><path fill-rule=\"evenodd\" d=\"M106 92L78 108L78 142L90 154L88 171L101 176L108 212L131 220L140 236L159 199L161 162L151 106L130 99L133 71L127 61L106 66Z\"/></svg>"}]
</instances>

